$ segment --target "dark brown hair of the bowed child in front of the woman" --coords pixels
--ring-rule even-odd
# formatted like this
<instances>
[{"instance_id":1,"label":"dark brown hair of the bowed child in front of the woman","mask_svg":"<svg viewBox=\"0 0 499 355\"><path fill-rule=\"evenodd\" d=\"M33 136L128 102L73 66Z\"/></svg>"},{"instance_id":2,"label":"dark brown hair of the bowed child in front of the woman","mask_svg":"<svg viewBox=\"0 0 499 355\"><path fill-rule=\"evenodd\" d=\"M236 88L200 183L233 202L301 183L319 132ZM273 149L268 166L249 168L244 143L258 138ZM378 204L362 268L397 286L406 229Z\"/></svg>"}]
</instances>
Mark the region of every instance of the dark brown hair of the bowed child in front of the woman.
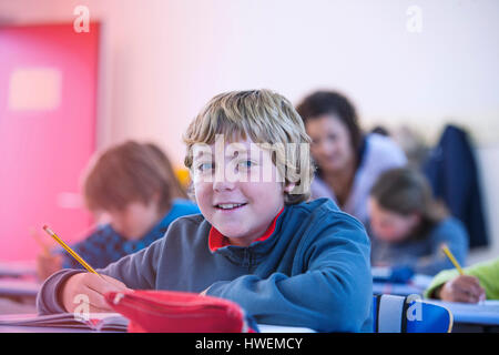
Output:
<instances>
[{"instance_id":1,"label":"dark brown hair of the bowed child in front of the woman","mask_svg":"<svg viewBox=\"0 0 499 355\"><path fill-rule=\"evenodd\" d=\"M409 168L390 169L379 175L370 196L384 210L407 216L416 213L421 222L411 239L422 239L447 215L447 209L437 202L426 178Z\"/></svg>"}]
</instances>

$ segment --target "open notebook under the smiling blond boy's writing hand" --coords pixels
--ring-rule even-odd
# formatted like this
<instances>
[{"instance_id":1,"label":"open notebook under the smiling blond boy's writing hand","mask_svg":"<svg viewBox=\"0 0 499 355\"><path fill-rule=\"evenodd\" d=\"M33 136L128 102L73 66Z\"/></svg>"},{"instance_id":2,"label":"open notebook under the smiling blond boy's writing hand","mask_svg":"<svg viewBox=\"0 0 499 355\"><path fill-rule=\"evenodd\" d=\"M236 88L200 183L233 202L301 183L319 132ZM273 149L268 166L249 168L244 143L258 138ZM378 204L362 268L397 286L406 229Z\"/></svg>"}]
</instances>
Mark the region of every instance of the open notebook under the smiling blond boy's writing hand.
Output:
<instances>
[{"instance_id":1,"label":"open notebook under the smiling blond boy's writing hand","mask_svg":"<svg viewBox=\"0 0 499 355\"><path fill-rule=\"evenodd\" d=\"M89 329L94 332L126 332L129 320L119 313L92 313L88 321L82 317L75 317L72 313L51 315L17 314L0 316L1 325Z\"/></svg>"}]
</instances>

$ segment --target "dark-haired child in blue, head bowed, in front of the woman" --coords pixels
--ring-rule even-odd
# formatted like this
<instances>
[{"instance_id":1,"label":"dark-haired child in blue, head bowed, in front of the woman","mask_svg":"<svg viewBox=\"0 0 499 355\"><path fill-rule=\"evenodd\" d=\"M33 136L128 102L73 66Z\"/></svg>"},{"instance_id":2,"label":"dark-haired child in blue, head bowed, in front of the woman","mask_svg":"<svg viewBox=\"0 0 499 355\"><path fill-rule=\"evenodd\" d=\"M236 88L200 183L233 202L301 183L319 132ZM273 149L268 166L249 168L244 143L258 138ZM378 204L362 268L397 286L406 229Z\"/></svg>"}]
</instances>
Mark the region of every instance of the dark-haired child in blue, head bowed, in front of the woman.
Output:
<instances>
[{"instance_id":1,"label":"dark-haired child in blue, head bowed, in front of the woman","mask_svg":"<svg viewBox=\"0 0 499 355\"><path fill-rule=\"evenodd\" d=\"M383 173L370 190L373 266L394 273L435 275L452 267L441 252L445 243L465 264L468 235L462 224L437 203L426 179L407 168Z\"/></svg>"}]
</instances>

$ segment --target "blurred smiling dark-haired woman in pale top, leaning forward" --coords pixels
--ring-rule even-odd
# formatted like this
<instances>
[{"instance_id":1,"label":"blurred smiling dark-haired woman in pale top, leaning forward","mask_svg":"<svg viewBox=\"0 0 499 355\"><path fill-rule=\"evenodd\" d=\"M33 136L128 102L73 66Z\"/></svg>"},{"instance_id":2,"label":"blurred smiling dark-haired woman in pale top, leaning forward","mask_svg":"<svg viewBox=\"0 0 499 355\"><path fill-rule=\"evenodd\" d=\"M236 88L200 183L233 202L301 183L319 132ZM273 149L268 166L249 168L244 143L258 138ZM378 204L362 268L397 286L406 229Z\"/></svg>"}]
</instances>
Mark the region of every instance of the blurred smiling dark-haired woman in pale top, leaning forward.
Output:
<instances>
[{"instance_id":1,"label":"blurred smiling dark-haired woman in pale top, leaning forward","mask_svg":"<svg viewBox=\"0 0 499 355\"><path fill-rule=\"evenodd\" d=\"M401 166L407 160L389 138L364 135L355 106L334 91L317 91L296 108L312 139L316 163L312 199L329 197L338 206L366 223L369 190L380 173Z\"/></svg>"}]
</instances>

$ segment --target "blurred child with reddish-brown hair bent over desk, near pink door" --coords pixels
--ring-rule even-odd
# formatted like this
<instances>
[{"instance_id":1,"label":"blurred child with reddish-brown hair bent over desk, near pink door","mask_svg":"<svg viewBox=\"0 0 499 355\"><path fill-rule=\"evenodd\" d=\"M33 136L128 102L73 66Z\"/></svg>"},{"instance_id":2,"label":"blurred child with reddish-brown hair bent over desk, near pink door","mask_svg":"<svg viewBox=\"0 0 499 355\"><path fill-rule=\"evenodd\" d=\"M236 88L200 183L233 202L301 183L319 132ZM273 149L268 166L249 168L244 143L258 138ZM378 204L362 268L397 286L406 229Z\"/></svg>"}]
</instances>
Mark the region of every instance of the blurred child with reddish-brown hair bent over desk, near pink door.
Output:
<instances>
[{"instance_id":1,"label":"blurred child with reddish-brown hair bent over desk, near pink door","mask_svg":"<svg viewBox=\"0 0 499 355\"><path fill-rule=\"evenodd\" d=\"M152 143L128 141L96 155L83 181L85 204L109 223L72 245L93 267L105 267L162 237L175 219L198 213L187 200L172 165ZM37 258L41 280L53 272L82 266L69 254Z\"/></svg>"}]
</instances>

